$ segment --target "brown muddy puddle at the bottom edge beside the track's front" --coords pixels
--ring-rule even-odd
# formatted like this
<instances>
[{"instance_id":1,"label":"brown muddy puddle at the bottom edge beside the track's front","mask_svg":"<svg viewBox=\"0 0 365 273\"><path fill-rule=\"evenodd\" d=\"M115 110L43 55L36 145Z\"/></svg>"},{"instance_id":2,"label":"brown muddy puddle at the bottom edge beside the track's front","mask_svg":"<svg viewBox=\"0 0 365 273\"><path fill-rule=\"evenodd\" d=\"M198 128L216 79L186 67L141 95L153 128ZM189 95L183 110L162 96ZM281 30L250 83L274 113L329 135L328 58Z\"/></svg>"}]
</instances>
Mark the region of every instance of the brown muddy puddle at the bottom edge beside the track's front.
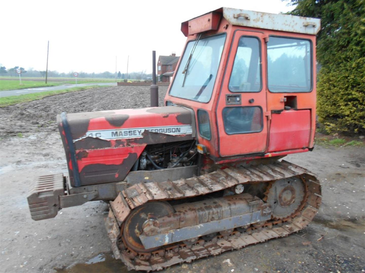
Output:
<instances>
[{"instance_id":1,"label":"brown muddy puddle at the bottom edge beside the track's front","mask_svg":"<svg viewBox=\"0 0 365 273\"><path fill-rule=\"evenodd\" d=\"M128 271L127 266L122 261L116 260L111 253L101 253L83 264L76 264L64 269L56 269L58 273L137 273L138 271Z\"/></svg>"}]
</instances>

